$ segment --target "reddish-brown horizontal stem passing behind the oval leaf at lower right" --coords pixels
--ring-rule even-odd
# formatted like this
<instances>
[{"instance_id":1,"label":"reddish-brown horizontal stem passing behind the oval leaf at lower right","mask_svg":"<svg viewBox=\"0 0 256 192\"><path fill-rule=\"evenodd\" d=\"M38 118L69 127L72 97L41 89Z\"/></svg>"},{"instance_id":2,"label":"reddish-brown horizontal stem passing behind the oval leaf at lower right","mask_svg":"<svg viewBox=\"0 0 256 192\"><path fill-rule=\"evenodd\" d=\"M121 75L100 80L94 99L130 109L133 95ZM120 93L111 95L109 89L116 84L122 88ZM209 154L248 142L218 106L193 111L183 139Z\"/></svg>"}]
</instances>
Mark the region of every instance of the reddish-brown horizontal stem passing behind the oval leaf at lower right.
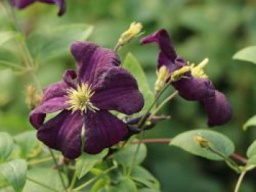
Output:
<instances>
[{"instance_id":1,"label":"reddish-brown horizontal stem passing behind the oval leaf at lower right","mask_svg":"<svg viewBox=\"0 0 256 192\"><path fill-rule=\"evenodd\" d=\"M143 139L141 141L132 141L131 144L139 144L139 143L163 143L163 144L169 144L172 139L167 139L167 138L159 138L159 139ZM247 164L248 160L241 155L238 155L237 153L233 153L230 155L230 158L235 159L236 161L239 161L243 164Z\"/></svg>"}]
</instances>

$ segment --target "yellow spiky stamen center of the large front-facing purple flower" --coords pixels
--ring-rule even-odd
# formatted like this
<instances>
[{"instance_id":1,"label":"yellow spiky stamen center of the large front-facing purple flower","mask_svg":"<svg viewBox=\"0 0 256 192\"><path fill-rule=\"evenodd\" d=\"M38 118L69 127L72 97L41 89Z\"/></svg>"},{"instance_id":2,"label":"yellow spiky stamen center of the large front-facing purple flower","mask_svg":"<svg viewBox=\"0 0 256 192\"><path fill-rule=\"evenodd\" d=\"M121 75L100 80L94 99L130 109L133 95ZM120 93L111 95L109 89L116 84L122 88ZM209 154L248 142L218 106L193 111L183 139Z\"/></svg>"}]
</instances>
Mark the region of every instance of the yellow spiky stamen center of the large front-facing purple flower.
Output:
<instances>
[{"instance_id":1,"label":"yellow spiky stamen center of the large front-facing purple flower","mask_svg":"<svg viewBox=\"0 0 256 192\"><path fill-rule=\"evenodd\" d=\"M76 90L74 88L69 88L67 90L67 97L69 98L67 103L70 105L70 107L67 110L72 110L72 112L81 110L84 113L86 113L87 110L96 112L96 110L99 109L90 101L91 96L93 95L94 92L91 90L91 85L88 85L87 83L82 82L80 85L78 85Z\"/></svg>"}]
</instances>

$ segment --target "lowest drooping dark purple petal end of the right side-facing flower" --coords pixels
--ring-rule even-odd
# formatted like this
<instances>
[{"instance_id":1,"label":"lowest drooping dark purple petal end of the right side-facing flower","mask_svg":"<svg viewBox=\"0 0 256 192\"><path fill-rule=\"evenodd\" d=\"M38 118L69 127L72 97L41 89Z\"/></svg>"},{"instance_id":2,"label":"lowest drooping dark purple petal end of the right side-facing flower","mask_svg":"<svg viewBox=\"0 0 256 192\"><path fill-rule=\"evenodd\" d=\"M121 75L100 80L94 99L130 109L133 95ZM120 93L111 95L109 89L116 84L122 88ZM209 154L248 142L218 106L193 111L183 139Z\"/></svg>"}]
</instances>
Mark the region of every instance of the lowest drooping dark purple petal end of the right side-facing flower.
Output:
<instances>
[{"instance_id":1,"label":"lowest drooping dark purple petal end of the right side-facing flower","mask_svg":"<svg viewBox=\"0 0 256 192\"><path fill-rule=\"evenodd\" d=\"M227 123L232 117L232 109L226 96L215 91L215 95L202 101L208 115L208 126L219 126Z\"/></svg>"}]
</instances>

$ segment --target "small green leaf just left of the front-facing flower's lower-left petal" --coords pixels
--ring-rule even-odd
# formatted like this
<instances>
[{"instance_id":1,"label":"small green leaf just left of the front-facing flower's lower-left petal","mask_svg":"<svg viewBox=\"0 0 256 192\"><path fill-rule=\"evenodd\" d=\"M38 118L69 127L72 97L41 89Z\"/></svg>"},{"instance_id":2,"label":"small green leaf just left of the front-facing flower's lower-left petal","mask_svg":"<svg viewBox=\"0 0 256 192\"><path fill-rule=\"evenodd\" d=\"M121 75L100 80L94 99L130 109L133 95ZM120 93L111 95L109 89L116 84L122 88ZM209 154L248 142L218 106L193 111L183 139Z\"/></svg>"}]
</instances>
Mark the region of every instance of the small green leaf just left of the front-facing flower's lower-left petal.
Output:
<instances>
[{"instance_id":1,"label":"small green leaf just left of the front-facing flower's lower-left petal","mask_svg":"<svg viewBox=\"0 0 256 192\"><path fill-rule=\"evenodd\" d=\"M41 152L41 145L37 139L37 131L26 131L14 137L15 142L20 147L22 158L34 158Z\"/></svg>"}]
</instances>

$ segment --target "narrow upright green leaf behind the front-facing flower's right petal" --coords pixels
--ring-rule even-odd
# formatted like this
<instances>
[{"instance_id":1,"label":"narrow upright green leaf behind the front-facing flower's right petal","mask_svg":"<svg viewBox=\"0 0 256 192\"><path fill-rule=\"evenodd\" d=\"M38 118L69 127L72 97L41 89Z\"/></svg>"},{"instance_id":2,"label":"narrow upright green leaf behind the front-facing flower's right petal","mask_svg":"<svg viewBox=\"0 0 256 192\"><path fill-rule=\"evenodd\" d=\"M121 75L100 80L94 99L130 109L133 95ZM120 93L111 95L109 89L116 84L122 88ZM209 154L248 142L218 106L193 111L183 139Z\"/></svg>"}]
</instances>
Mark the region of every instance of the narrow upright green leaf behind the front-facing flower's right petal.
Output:
<instances>
[{"instance_id":1,"label":"narrow upright green leaf behind the front-facing flower's right petal","mask_svg":"<svg viewBox=\"0 0 256 192\"><path fill-rule=\"evenodd\" d=\"M146 74L143 71L139 61L135 58L132 53L128 53L124 59L124 64L122 65L124 69L127 69L138 81L140 92L143 93L145 105L141 113L146 112L150 105L154 101L154 93L152 93L150 86L148 85L148 80Z\"/></svg>"}]
</instances>

